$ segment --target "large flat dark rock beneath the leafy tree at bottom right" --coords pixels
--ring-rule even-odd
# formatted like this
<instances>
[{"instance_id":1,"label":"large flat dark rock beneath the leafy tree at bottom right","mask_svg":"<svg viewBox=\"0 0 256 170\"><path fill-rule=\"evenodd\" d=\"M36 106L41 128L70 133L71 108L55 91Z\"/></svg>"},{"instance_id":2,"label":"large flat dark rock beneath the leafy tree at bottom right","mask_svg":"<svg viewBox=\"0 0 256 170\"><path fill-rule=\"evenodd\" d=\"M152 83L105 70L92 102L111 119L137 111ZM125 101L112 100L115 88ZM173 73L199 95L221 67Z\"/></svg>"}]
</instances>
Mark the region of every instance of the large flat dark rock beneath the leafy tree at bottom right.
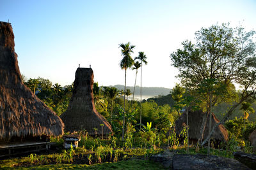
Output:
<instances>
[{"instance_id":1,"label":"large flat dark rock beneath the leafy tree at bottom right","mask_svg":"<svg viewBox=\"0 0 256 170\"><path fill-rule=\"evenodd\" d=\"M173 169L250 169L235 159L202 154L175 154L172 162Z\"/></svg>"}]
</instances>

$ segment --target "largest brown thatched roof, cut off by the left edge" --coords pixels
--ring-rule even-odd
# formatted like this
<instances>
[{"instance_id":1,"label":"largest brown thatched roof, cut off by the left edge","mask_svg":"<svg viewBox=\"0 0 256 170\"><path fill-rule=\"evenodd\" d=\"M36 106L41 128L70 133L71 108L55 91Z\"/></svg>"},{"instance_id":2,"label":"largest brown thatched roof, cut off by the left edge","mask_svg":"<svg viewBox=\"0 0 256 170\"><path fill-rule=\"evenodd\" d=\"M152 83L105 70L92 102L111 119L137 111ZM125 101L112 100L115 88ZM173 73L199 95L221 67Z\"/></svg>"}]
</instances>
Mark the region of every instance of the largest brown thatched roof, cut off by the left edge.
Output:
<instances>
[{"instance_id":1,"label":"largest brown thatched roof, cut off by the left edge","mask_svg":"<svg viewBox=\"0 0 256 170\"><path fill-rule=\"evenodd\" d=\"M63 122L23 83L12 25L0 22L0 141L63 134Z\"/></svg>"}]
</instances>

